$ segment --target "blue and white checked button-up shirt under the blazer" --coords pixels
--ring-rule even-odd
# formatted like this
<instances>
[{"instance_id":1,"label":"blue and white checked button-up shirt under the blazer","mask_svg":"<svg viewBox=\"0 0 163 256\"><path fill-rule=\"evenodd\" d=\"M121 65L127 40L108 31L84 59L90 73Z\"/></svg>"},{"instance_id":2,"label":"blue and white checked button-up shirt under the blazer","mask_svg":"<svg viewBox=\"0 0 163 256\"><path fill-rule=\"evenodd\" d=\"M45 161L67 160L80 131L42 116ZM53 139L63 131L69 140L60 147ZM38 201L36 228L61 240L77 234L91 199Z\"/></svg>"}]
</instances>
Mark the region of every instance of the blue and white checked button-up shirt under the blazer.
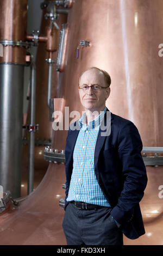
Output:
<instances>
[{"instance_id":1,"label":"blue and white checked button-up shirt under the blazer","mask_svg":"<svg viewBox=\"0 0 163 256\"><path fill-rule=\"evenodd\" d=\"M110 206L99 186L94 170L95 145L106 107L86 124L86 113L78 120L80 131L73 151L73 170L67 201Z\"/></svg>"}]
</instances>

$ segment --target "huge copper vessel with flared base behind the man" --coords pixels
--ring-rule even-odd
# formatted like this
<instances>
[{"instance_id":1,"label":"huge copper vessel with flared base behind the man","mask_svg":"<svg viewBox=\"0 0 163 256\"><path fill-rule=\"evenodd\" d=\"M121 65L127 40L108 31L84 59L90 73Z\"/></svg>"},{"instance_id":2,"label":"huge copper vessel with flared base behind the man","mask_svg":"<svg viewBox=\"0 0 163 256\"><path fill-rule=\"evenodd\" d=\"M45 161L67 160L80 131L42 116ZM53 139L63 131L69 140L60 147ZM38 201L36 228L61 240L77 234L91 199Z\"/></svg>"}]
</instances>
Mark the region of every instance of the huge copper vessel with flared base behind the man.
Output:
<instances>
[{"instance_id":1,"label":"huge copper vessel with flared base behind the man","mask_svg":"<svg viewBox=\"0 0 163 256\"><path fill-rule=\"evenodd\" d=\"M68 14L68 44L57 97L65 100L69 113L82 114L79 76L90 66L104 69L112 78L106 106L134 122L144 147L161 147L163 59L158 56L158 45L163 33L162 1L73 2ZM66 135L66 130L53 131L52 148L64 149ZM136 240L124 236L124 245L163 244L163 199L158 196L162 170L161 166L147 167L148 184L140 204L146 234ZM61 226L64 210L59 206L59 199L65 197L64 183L64 164L50 163L36 190L22 200L17 209L1 216L0 243L65 245Z\"/></svg>"}]
</instances>

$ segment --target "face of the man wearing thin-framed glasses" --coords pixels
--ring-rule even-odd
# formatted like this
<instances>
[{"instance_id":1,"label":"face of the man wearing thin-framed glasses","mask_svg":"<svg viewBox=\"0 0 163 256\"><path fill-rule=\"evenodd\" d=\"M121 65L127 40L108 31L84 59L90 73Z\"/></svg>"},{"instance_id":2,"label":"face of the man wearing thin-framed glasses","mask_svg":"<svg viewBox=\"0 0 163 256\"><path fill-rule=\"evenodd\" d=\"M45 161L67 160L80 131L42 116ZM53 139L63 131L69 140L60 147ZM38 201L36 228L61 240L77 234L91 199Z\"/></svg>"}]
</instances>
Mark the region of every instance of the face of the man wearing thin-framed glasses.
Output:
<instances>
[{"instance_id":1,"label":"face of the man wearing thin-framed glasses","mask_svg":"<svg viewBox=\"0 0 163 256\"><path fill-rule=\"evenodd\" d=\"M90 69L85 71L80 79L79 86L92 85L107 87L104 80L104 75L97 69ZM98 92L93 92L91 87L89 87L86 92L83 92L82 89L79 89L79 96L82 105L84 106L85 110L90 110L91 112L103 111L105 108L105 101L109 97L109 94L110 88L102 88Z\"/></svg>"}]
</instances>

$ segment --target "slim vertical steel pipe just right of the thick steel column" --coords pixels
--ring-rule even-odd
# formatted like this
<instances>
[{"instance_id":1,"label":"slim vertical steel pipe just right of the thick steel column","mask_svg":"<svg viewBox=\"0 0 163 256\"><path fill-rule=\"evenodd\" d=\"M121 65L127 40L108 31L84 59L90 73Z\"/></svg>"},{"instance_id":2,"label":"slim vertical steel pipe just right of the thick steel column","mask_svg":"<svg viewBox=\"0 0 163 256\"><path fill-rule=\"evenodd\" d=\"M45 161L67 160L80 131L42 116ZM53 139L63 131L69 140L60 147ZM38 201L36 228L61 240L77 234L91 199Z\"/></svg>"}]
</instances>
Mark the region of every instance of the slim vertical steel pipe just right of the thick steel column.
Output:
<instances>
[{"instance_id":1,"label":"slim vertical steel pipe just right of the thick steel column","mask_svg":"<svg viewBox=\"0 0 163 256\"><path fill-rule=\"evenodd\" d=\"M34 127L29 131L29 171L28 171L28 194L33 192L34 187L34 154L35 154L35 110L36 110L36 67L32 62L30 66L30 125Z\"/></svg>"}]
</instances>

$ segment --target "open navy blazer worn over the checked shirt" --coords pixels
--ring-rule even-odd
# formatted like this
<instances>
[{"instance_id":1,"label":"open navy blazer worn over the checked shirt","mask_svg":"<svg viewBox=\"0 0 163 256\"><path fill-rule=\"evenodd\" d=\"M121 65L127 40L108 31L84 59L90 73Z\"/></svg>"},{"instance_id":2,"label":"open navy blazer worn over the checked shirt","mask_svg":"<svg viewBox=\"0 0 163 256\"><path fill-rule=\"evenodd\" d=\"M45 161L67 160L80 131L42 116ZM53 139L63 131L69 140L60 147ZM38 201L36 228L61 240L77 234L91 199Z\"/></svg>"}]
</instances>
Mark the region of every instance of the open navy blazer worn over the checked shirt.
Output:
<instances>
[{"instance_id":1,"label":"open navy blazer worn over the checked shirt","mask_svg":"<svg viewBox=\"0 0 163 256\"><path fill-rule=\"evenodd\" d=\"M101 132L105 130L101 130L102 125L99 129L94 155L95 174L111 205L111 216L121 224L124 235L129 239L136 239L145 234L139 205L147 185L146 167L141 156L142 141L139 131L131 121L112 113L110 116L110 134L101 136ZM106 113L103 124L106 127ZM73 126L78 127L78 121ZM73 150L79 133L79 129L71 127L70 125L65 148L65 209L73 169Z\"/></svg>"}]
</instances>

